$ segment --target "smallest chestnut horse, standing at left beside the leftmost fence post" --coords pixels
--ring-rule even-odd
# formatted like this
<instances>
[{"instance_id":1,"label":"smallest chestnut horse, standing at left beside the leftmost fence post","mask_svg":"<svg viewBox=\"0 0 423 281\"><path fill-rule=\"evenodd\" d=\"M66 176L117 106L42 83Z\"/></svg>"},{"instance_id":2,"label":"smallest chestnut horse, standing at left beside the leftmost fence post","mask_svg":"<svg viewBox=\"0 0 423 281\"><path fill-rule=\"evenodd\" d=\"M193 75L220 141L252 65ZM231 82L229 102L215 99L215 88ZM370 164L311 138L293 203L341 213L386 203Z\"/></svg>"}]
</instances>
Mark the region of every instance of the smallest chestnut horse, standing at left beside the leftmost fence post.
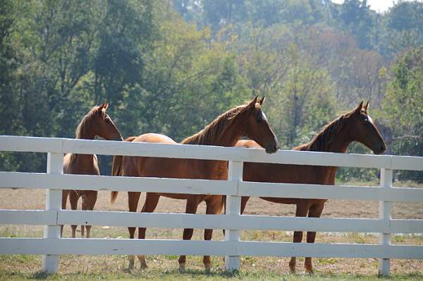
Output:
<instances>
[{"instance_id":1,"label":"smallest chestnut horse, standing at left beside the leftmost fence post","mask_svg":"<svg viewBox=\"0 0 423 281\"><path fill-rule=\"evenodd\" d=\"M76 128L76 138L93 140L95 136L99 136L106 140L122 140L121 133L111 121L110 116L106 113L109 103L98 107L92 107L90 112L84 116L81 123ZM97 164L97 155L92 154L74 154L68 153L63 158L64 174L97 174L99 175L99 165ZM92 210L97 201L97 191L89 190L63 190L62 193L62 209L66 210L66 201L71 201L72 210L78 207L78 199L82 197L82 210ZM75 238L76 225L72 225L72 237ZM90 238L91 226L87 228L87 238ZM61 234L63 234L63 225L61 226ZM84 226L81 225L81 236L84 237Z\"/></svg>"}]
</instances>

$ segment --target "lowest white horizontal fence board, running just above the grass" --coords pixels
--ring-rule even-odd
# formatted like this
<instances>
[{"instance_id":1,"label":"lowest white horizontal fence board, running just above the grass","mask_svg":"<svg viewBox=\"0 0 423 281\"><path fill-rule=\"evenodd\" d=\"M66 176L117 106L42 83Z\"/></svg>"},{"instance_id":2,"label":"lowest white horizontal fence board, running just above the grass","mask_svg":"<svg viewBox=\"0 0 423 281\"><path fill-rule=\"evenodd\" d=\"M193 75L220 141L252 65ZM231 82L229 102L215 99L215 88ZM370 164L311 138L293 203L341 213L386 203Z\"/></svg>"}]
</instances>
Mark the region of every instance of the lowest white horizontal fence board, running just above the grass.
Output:
<instances>
[{"instance_id":1,"label":"lowest white horizontal fence board, running just above the grass","mask_svg":"<svg viewBox=\"0 0 423 281\"><path fill-rule=\"evenodd\" d=\"M310 256L423 259L423 246L257 241L0 238L2 254Z\"/></svg>"}]
</instances>

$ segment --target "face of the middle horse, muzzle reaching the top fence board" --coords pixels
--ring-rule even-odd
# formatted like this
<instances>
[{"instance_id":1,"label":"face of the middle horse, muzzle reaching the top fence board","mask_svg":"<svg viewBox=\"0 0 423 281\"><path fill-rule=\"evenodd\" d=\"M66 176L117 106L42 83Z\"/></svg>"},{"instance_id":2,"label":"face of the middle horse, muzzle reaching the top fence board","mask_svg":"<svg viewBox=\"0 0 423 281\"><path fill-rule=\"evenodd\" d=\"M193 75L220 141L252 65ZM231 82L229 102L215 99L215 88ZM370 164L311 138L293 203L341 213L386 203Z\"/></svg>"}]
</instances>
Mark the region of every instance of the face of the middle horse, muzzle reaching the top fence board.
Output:
<instances>
[{"instance_id":1,"label":"face of the middle horse, muzzle reaching the top fence board","mask_svg":"<svg viewBox=\"0 0 423 281\"><path fill-rule=\"evenodd\" d=\"M266 153L276 153L279 148L278 139L270 128L266 115L262 111L263 102L264 97L258 102L257 97L255 97L255 99L247 105L245 109L247 110L247 116L245 117L247 120L245 123L245 135L261 145L266 150Z\"/></svg>"}]
</instances>

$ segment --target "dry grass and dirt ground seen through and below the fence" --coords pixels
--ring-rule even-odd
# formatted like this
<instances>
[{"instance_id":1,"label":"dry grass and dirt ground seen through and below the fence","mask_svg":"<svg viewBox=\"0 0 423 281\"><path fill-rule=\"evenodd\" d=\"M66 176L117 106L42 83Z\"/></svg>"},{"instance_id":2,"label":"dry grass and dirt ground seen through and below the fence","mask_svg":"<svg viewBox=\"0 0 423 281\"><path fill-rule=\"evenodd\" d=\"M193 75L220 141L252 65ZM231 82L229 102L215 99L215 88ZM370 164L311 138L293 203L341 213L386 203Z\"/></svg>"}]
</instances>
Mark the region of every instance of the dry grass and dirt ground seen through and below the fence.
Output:
<instances>
[{"instance_id":1,"label":"dry grass and dirt ground seen through and below the fence","mask_svg":"<svg viewBox=\"0 0 423 281\"><path fill-rule=\"evenodd\" d=\"M374 184L373 184L374 185ZM416 186L413 183L399 183L396 186ZM419 186L421 187L421 186ZM140 199L143 203L144 197ZM44 190L1 190L1 209L43 209ZM99 192L95 210L127 210L127 194L120 193L118 201L111 205L109 193ZM142 205L138 206L138 210ZM161 198L157 212L183 213L185 201ZM197 213L204 213L202 203ZM280 205L252 198L246 213L255 215L294 215L293 205ZM423 219L423 203L394 203L394 218ZM378 217L378 203L374 201L328 201L322 217ZM65 227L65 237L70 237L71 227ZM78 234L79 234L78 229ZM292 241L292 232L243 231L242 239L256 241ZM41 226L3 225L0 237L42 237ZM93 227L92 237L127 238L124 227ZM181 229L147 229L148 239L180 239ZM202 239L202 230L195 229L193 239ZM214 239L223 239L221 231L214 232ZM377 244L374 234L362 233L317 233L319 243L366 243ZM423 245L421 235L393 235L393 244ZM41 266L40 256L2 255L0 256L0 280L27 280L47 277L53 280L373 280L377 278L377 260L373 258L314 258L314 276L302 274L303 258L298 258L297 275L288 273L289 258L249 257L241 258L242 269L229 275L224 269L222 257L212 257L212 272L206 273L202 267L202 257L187 257L187 272L178 272L177 256L147 256L149 268L125 272L128 267L127 256L61 256L57 275L41 275L37 271ZM136 266L138 264L136 263ZM391 278L398 280L423 280L423 261L391 261Z\"/></svg>"}]
</instances>

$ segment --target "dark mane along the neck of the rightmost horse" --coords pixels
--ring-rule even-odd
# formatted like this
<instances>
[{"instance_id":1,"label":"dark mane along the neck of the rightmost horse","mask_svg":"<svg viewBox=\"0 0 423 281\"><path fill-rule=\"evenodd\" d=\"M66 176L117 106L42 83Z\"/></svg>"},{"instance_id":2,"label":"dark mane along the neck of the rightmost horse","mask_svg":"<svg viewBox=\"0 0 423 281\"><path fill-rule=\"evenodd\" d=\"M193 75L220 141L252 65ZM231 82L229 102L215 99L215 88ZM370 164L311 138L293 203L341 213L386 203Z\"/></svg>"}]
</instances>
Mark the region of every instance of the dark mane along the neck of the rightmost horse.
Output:
<instances>
[{"instance_id":1,"label":"dark mane along the neck of the rightmost horse","mask_svg":"<svg viewBox=\"0 0 423 281\"><path fill-rule=\"evenodd\" d=\"M348 116L350 116L354 111L355 109L331 121L331 123L321 128L319 133L317 133L317 135L314 136L314 138L310 140L309 143L300 145L294 148L294 150L319 152L329 151L329 145L333 142L333 140L335 140L336 136L338 136L338 133L345 125L345 121L348 119Z\"/></svg>"}]
</instances>

